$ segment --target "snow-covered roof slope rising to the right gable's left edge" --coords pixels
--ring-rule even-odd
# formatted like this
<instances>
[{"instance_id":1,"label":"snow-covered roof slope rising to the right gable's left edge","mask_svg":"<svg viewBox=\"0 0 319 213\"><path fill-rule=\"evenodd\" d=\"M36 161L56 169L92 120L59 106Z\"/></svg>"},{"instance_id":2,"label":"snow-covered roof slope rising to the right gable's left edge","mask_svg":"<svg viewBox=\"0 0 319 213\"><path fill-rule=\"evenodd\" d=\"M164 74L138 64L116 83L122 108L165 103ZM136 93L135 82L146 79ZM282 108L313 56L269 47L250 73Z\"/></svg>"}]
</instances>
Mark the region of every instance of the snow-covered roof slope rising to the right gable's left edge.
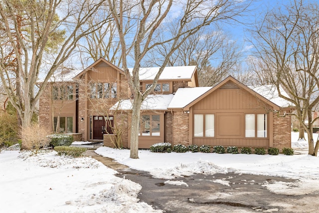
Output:
<instances>
[{"instance_id":1,"label":"snow-covered roof slope rising to the right gable's left edge","mask_svg":"<svg viewBox=\"0 0 319 213\"><path fill-rule=\"evenodd\" d=\"M169 103L168 108L183 108L211 88L212 87L179 88Z\"/></svg>"}]
</instances>

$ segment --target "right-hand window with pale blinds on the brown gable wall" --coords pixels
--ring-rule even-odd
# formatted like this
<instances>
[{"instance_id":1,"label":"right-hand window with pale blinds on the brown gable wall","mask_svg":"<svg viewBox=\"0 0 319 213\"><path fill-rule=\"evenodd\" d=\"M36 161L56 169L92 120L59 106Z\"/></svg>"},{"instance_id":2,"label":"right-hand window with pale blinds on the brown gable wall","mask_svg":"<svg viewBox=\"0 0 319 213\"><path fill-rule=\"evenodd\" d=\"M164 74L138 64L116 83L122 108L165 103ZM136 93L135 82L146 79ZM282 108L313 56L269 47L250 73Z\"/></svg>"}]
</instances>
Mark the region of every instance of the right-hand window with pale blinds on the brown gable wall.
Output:
<instances>
[{"instance_id":1,"label":"right-hand window with pale blinds on the brown gable wall","mask_svg":"<svg viewBox=\"0 0 319 213\"><path fill-rule=\"evenodd\" d=\"M255 138L256 135L257 138L267 138L267 114L245 115L245 137Z\"/></svg>"}]
</instances>

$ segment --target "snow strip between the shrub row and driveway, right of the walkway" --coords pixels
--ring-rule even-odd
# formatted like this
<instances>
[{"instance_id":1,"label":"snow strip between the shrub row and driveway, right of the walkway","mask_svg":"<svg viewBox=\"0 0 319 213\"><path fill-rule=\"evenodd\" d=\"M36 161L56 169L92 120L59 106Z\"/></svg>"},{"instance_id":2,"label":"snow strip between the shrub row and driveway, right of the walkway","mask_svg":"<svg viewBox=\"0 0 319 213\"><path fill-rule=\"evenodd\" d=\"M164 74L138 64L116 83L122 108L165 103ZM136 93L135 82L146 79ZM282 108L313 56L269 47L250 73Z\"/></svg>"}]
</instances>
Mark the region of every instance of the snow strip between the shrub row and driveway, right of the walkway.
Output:
<instances>
[{"instance_id":1,"label":"snow strip between the shrub row and driveway, right of the walkway","mask_svg":"<svg viewBox=\"0 0 319 213\"><path fill-rule=\"evenodd\" d=\"M317 139L317 137L318 134L314 134L314 138ZM108 147L98 148L96 153L113 158L133 169L148 171L156 178L175 179L190 174L213 175L235 172L298 180L291 185L289 185L290 182L276 182L276 185L265 183L264 186L274 193L300 195L319 191L319 157L307 154L308 142L298 140L298 133L292 133L292 145L296 149L294 156L191 152L152 153L149 150L139 150L140 159L130 159L129 150ZM276 190L278 188L282 190Z\"/></svg>"}]
</instances>

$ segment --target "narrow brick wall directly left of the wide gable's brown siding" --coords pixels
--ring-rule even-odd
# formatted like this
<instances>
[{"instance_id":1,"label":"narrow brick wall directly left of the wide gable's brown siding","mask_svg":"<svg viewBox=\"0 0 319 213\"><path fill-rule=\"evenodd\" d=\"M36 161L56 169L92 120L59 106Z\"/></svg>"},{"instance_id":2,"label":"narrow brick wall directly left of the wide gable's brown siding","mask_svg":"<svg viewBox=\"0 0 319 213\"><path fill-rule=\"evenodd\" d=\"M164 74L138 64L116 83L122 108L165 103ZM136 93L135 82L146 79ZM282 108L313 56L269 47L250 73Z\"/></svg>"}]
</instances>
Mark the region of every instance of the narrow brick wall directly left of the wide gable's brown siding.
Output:
<instances>
[{"instance_id":1,"label":"narrow brick wall directly left of the wide gable's brown siding","mask_svg":"<svg viewBox=\"0 0 319 213\"><path fill-rule=\"evenodd\" d=\"M173 145L189 145L189 114L183 111L173 112Z\"/></svg>"}]
</instances>

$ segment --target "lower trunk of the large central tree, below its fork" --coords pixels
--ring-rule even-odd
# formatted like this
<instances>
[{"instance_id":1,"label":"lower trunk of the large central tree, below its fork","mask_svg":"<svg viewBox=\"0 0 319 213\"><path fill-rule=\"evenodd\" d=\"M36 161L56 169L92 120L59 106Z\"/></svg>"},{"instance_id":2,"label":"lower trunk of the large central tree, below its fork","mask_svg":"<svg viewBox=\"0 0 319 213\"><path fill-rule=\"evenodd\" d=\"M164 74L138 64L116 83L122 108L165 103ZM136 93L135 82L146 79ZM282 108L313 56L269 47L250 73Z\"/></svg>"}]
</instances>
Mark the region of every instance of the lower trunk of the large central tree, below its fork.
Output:
<instances>
[{"instance_id":1,"label":"lower trunk of the large central tree, below its fork","mask_svg":"<svg viewBox=\"0 0 319 213\"><path fill-rule=\"evenodd\" d=\"M134 97L132 109L132 124L131 124L131 146L130 158L139 158L139 129L141 115L142 95L137 93Z\"/></svg>"}]
</instances>

